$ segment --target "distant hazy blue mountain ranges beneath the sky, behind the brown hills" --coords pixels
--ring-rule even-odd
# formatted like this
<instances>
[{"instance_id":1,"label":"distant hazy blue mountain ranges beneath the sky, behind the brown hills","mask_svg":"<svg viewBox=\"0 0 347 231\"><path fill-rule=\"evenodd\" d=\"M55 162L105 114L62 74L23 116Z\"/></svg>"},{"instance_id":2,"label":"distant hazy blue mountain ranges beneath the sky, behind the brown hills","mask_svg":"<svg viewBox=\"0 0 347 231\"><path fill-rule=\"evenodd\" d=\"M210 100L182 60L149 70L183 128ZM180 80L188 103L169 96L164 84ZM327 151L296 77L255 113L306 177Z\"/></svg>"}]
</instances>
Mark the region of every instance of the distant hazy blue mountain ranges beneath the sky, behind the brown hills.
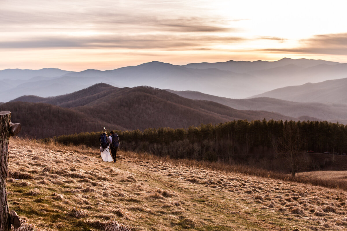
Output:
<instances>
[{"instance_id":1,"label":"distant hazy blue mountain ranges beneath the sky, behind the brown hills","mask_svg":"<svg viewBox=\"0 0 347 231\"><path fill-rule=\"evenodd\" d=\"M100 82L120 88L151 86L176 91L193 90L227 98L247 98L254 95L280 98L277 95L266 94L277 88L303 85L307 82L311 82L312 85L303 88L310 91L311 88L315 88L315 83L346 78L346 73L347 64L287 58L274 62L227 61L191 63L183 66L153 61L107 71L6 69L0 71L0 101L7 102L23 95L49 97L68 94ZM329 89L329 91L339 90ZM291 92L290 95L294 97L297 94ZM314 98L313 101L322 102L320 97L315 95L311 98L298 97L301 98L280 99L303 102L312 101L311 98ZM327 102L327 97L321 98L325 100L323 103ZM345 103L339 99L328 102Z\"/></svg>"}]
</instances>

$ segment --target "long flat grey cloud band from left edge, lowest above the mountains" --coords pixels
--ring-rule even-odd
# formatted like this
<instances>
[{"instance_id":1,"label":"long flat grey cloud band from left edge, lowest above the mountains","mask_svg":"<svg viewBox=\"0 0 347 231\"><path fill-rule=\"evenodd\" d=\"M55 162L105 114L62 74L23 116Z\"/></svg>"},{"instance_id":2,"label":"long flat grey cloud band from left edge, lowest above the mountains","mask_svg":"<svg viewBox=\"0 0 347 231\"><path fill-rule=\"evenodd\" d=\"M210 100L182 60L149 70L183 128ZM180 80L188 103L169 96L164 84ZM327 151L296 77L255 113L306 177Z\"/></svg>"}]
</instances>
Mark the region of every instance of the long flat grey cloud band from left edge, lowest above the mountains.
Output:
<instances>
[{"instance_id":1,"label":"long flat grey cloud band from left edge, lowest above the mountains","mask_svg":"<svg viewBox=\"0 0 347 231\"><path fill-rule=\"evenodd\" d=\"M208 46L219 43L245 41L242 37L206 35L112 35L88 37L45 37L20 41L0 42L0 48L129 48L129 49L175 49L209 50Z\"/></svg>"}]
</instances>

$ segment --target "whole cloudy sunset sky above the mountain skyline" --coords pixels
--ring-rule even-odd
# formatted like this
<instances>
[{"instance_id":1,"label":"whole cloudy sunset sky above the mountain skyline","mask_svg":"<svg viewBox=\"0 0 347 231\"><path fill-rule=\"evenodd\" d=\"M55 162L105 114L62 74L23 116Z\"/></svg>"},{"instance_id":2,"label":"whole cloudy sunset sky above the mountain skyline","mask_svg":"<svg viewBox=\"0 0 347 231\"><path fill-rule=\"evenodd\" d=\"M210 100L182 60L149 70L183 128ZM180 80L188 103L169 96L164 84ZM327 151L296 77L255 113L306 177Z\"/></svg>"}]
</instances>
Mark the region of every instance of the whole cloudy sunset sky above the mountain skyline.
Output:
<instances>
[{"instance_id":1,"label":"whole cloudy sunset sky above the mountain skyline","mask_svg":"<svg viewBox=\"0 0 347 231\"><path fill-rule=\"evenodd\" d=\"M347 1L0 0L0 70L347 63Z\"/></svg>"}]
</instances>

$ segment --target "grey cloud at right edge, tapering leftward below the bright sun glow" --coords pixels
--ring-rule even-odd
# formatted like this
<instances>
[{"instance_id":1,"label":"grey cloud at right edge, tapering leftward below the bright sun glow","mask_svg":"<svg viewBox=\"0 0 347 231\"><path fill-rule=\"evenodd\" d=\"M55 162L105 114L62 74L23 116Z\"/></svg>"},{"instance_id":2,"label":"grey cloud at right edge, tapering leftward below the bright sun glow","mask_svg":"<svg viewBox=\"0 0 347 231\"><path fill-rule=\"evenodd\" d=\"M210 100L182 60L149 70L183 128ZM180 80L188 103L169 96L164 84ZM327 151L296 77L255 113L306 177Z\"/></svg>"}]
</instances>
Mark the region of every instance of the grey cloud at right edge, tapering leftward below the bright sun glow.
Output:
<instances>
[{"instance_id":1,"label":"grey cloud at right edge, tapering leftward below the bright sun glow","mask_svg":"<svg viewBox=\"0 0 347 231\"><path fill-rule=\"evenodd\" d=\"M278 53L303 53L303 54L347 54L347 33L315 35L299 41L302 45L294 48L263 49L260 51Z\"/></svg>"}]
</instances>

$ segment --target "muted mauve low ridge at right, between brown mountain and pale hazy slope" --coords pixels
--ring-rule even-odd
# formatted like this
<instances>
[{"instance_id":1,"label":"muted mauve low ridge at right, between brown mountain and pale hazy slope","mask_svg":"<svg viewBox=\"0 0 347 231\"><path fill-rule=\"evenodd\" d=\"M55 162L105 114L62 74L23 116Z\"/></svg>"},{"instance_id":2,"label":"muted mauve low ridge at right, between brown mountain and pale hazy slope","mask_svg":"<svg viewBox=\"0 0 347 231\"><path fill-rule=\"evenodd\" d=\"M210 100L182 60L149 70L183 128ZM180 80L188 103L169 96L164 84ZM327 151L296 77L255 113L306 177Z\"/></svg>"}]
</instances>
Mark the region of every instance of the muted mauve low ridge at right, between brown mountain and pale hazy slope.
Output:
<instances>
[{"instance_id":1,"label":"muted mauve low ridge at right, between brown mountain and pale hazy slope","mask_svg":"<svg viewBox=\"0 0 347 231\"><path fill-rule=\"evenodd\" d=\"M300 103L268 97L229 99L196 91L167 91L189 99L214 101L239 110L264 110L301 120L327 120L347 124L347 105L345 104Z\"/></svg>"}]
</instances>

